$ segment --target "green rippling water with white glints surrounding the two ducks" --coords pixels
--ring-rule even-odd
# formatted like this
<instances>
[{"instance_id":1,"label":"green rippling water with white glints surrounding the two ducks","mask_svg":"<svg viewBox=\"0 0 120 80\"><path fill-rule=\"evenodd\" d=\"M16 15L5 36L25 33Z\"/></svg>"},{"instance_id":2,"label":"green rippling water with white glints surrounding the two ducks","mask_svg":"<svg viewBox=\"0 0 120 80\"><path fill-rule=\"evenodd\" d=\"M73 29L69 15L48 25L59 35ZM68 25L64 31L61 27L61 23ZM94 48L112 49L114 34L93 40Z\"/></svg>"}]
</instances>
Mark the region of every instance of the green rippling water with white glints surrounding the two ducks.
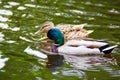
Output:
<instances>
[{"instance_id":1,"label":"green rippling water with white glints surrounding the two ducks","mask_svg":"<svg viewBox=\"0 0 120 80\"><path fill-rule=\"evenodd\" d=\"M0 0L0 80L119 80L119 5L119 0ZM87 23L86 29L95 30L90 37L118 44L113 51L117 64L102 63L84 70L76 66L81 64L64 62L51 71L46 67L47 56L36 48L39 36L34 35L48 20Z\"/></svg>"}]
</instances>

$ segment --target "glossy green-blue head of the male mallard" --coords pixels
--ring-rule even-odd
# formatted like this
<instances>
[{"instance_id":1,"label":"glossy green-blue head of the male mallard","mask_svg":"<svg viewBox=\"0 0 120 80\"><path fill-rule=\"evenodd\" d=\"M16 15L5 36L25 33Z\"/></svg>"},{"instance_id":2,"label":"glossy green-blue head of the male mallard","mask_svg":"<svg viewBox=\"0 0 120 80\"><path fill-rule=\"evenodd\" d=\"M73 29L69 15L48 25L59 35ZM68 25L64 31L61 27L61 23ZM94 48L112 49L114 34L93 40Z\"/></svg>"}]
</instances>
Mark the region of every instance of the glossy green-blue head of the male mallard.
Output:
<instances>
[{"instance_id":1,"label":"glossy green-blue head of the male mallard","mask_svg":"<svg viewBox=\"0 0 120 80\"><path fill-rule=\"evenodd\" d=\"M55 44L59 44L60 46L64 44L64 35L57 28L51 28L48 31L47 36L49 39L53 40Z\"/></svg>"}]
</instances>

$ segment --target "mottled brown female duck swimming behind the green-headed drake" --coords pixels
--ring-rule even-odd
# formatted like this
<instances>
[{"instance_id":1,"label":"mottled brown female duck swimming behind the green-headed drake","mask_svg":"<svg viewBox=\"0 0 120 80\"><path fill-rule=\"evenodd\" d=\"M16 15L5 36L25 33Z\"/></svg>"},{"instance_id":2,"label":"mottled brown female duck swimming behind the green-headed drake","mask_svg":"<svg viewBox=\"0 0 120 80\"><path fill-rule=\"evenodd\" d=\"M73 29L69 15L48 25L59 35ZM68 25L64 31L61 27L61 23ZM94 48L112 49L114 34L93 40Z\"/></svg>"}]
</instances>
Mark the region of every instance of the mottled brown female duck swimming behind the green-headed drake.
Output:
<instances>
[{"instance_id":1,"label":"mottled brown female duck swimming behind the green-headed drake","mask_svg":"<svg viewBox=\"0 0 120 80\"><path fill-rule=\"evenodd\" d=\"M81 25L59 24L55 27L62 31L66 40L70 40L70 39L86 38L90 33L93 32L93 30L83 29L84 26L85 24L81 24ZM47 21L43 23L41 29L38 30L35 34L39 34L40 32L47 33L51 28L54 28L54 24L50 21ZM44 36L41 39L46 39L46 36Z\"/></svg>"}]
</instances>

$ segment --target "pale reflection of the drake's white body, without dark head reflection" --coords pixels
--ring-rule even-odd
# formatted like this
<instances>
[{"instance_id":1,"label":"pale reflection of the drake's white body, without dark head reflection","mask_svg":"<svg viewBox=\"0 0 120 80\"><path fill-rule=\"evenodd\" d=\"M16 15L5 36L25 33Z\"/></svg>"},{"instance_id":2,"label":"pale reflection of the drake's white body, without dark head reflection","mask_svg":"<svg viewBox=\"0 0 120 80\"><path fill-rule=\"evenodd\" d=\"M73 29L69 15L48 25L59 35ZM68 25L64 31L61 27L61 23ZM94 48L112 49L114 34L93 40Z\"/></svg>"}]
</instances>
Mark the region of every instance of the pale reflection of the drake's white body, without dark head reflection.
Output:
<instances>
[{"instance_id":1,"label":"pale reflection of the drake's white body, without dark head reflection","mask_svg":"<svg viewBox=\"0 0 120 80\"><path fill-rule=\"evenodd\" d=\"M72 67L82 70L91 70L93 66L100 66L101 64L116 64L116 59L105 58L100 55L96 56L71 56L64 55L66 62Z\"/></svg>"}]
</instances>

